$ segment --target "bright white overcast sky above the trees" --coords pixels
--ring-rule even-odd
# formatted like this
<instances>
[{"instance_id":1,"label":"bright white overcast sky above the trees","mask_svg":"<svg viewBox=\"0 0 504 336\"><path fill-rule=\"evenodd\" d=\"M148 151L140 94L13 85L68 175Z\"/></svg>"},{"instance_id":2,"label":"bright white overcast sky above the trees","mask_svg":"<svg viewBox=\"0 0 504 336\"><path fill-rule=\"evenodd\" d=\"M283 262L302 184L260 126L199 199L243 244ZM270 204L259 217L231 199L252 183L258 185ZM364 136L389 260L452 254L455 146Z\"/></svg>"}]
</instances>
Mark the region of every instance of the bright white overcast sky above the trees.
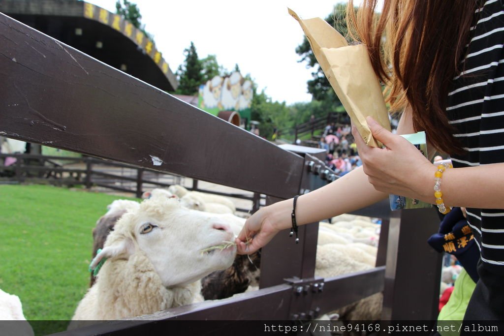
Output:
<instances>
[{"instance_id":1,"label":"bright white overcast sky above the trees","mask_svg":"<svg viewBox=\"0 0 504 336\"><path fill-rule=\"evenodd\" d=\"M86 0L115 13L115 0ZM326 18L341 0L132 0L142 23L172 72L183 63L183 50L194 42L199 58L209 54L228 70L238 63L273 101L288 105L311 100L306 81L311 69L299 63L296 47L303 41L301 27L288 13L302 19ZM357 2L356 2L357 3Z\"/></svg>"}]
</instances>

